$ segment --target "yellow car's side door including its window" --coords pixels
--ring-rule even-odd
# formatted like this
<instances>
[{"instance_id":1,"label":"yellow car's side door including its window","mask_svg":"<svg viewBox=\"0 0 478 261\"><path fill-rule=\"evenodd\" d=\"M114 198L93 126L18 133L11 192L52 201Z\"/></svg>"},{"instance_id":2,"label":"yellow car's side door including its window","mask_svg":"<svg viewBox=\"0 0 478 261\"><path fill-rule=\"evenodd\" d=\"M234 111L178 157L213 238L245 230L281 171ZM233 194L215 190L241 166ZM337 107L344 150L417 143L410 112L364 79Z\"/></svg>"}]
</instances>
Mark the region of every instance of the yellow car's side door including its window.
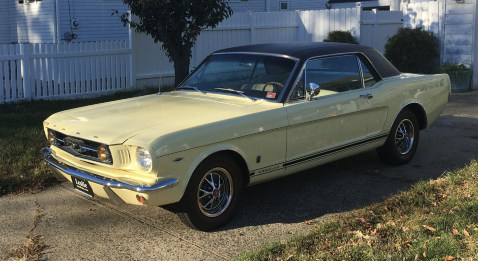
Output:
<instances>
[{"instance_id":1,"label":"yellow car's side door including its window","mask_svg":"<svg viewBox=\"0 0 478 261\"><path fill-rule=\"evenodd\" d=\"M302 95L300 90L312 82L321 91L308 101L308 94ZM363 84L356 55L306 63L290 102L284 104L289 121L286 170L311 167L321 158L350 150L350 144L366 138L372 102Z\"/></svg>"}]
</instances>

